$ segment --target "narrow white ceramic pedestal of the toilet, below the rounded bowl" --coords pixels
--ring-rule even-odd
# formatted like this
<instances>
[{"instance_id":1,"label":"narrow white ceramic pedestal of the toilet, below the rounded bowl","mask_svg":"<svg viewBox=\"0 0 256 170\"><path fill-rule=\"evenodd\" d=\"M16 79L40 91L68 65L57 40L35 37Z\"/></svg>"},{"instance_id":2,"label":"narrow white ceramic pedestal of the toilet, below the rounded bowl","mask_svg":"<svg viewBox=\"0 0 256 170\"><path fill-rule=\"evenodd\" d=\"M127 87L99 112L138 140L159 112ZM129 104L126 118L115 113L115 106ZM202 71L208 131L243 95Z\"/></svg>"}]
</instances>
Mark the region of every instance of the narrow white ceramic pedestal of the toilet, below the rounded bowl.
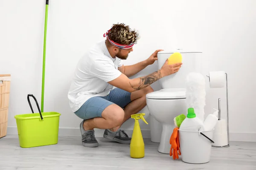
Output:
<instances>
[{"instance_id":1,"label":"narrow white ceramic pedestal of the toilet, below the rounded bowl","mask_svg":"<svg viewBox=\"0 0 256 170\"><path fill-rule=\"evenodd\" d=\"M173 129L175 128L175 125L173 124L163 124L163 131L161 134L161 141L158 146L158 152L170 154L171 144L170 144L170 138L172 136Z\"/></svg>"}]
</instances>

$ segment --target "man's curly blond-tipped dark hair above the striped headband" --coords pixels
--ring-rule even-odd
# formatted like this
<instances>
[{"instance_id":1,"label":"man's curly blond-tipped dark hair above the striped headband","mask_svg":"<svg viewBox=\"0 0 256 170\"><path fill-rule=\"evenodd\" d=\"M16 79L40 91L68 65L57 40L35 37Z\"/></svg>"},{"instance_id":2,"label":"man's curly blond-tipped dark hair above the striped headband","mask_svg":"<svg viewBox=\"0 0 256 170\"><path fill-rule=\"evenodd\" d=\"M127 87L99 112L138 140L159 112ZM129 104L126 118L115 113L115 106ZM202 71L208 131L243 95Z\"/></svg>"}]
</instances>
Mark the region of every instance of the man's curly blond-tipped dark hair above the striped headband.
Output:
<instances>
[{"instance_id":1,"label":"man's curly blond-tipped dark hair above the striped headband","mask_svg":"<svg viewBox=\"0 0 256 170\"><path fill-rule=\"evenodd\" d=\"M108 33L110 40L123 44L130 45L131 43L136 44L139 39L139 34L135 30L131 30L129 26L125 26L124 23L113 24L111 30Z\"/></svg>"}]
</instances>

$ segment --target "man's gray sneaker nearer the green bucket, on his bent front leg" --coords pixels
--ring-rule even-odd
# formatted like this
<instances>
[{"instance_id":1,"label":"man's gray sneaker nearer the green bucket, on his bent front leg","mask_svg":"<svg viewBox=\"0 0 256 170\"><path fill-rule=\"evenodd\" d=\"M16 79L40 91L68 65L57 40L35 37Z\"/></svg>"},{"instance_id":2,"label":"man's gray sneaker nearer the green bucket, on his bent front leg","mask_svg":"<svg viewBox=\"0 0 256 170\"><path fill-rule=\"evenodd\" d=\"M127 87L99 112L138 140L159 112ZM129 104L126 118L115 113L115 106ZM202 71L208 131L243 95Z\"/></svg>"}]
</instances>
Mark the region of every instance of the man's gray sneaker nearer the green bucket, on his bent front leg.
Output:
<instances>
[{"instance_id":1,"label":"man's gray sneaker nearer the green bucket, on his bent front leg","mask_svg":"<svg viewBox=\"0 0 256 170\"><path fill-rule=\"evenodd\" d=\"M82 135L82 144L85 147L97 147L98 141L94 136L94 130L84 130L84 120L80 123L80 131Z\"/></svg>"}]
</instances>

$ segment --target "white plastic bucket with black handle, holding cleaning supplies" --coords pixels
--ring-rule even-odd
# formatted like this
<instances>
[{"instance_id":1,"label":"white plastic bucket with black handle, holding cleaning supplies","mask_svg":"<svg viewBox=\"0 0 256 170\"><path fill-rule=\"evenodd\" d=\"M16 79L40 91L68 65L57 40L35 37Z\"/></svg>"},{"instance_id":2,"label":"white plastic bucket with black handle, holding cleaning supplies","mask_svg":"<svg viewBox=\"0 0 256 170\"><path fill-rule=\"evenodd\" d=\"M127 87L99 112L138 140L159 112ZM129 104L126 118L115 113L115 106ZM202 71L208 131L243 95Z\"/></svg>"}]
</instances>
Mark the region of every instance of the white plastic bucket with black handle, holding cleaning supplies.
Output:
<instances>
[{"instance_id":1,"label":"white plastic bucket with black handle, holding cleaning supplies","mask_svg":"<svg viewBox=\"0 0 256 170\"><path fill-rule=\"evenodd\" d=\"M209 162L212 150L213 131L214 129L208 131L179 130L182 161L190 164L204 164Z\"/></svg>"}]
</instances>

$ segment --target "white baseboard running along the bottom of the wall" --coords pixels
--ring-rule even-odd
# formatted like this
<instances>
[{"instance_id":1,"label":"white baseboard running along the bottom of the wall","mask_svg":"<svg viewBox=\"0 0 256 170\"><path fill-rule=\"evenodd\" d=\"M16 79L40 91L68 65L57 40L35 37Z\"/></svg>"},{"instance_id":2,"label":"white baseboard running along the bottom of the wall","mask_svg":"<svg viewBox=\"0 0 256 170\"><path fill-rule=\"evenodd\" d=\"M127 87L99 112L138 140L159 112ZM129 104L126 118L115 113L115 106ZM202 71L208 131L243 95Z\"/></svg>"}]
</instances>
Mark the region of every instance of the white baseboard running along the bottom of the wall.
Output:
<instances>
[{"instance_id":1,"label":"white baseboard running along the bottom of the wall","mask_svg":"<svg viewBox=\"0 0 256 170\"><path fill-rule=\"evenodd\" d=\"M132 135L132 129L126 129L128 136ZM95 136L103 136L103 129L95 129ZM142 129L143 138L150 138L150 130ZM17 127L7 127L7 134L17 134ZM59 128L59 136L81 136L79 128ZM256 133L230 133L230 141L256 142Z\"/></svg>"}]
</instances>

